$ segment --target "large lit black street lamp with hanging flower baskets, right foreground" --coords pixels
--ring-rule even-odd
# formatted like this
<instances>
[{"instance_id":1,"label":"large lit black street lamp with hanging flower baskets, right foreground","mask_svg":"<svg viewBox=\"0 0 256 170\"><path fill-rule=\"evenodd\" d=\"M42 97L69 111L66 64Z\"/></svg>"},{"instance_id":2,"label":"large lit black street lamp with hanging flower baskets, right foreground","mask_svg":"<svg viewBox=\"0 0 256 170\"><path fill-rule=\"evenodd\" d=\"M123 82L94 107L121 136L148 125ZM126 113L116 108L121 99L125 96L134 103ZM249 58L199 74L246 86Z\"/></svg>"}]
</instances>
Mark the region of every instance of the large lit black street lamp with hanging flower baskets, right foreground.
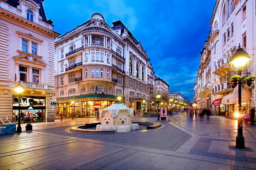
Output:
<instances>
[{"instance_id":1,"label":"large lit black street lamp with hanging flower baskets, right foreground","mask_svg":"<svg viewBox=\"0 0 256 170\"><path fill-rule=\"evenodd\" d=\"M246 70L249 67L250 56L244 49L239 47L236 50L235 54L230 59L230 67L234 72L238 72L238 75L242 74L242 71ZM238 83L238 111L241 114L241 79ZM237 125L237 136L236 136L236 148L244 149L244 136L243 136L243 121L241 117L238 117Z\"/></svg>"}]
</instances>

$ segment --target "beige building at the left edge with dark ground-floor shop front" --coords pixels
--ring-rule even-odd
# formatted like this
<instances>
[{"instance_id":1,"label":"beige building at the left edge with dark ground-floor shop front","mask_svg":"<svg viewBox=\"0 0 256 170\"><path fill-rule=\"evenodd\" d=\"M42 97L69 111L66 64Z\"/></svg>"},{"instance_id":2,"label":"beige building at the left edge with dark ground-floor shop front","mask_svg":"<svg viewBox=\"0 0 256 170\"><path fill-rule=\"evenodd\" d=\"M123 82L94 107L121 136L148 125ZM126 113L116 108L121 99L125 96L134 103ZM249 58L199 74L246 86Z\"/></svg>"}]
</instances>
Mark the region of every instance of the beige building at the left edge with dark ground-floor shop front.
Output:
<instances>
[{"instance_id":1,"label":"beige building at the left edge with dark ground-floor shop front","mask_svg":"<svg viewBox=\"0 0 256 170\"><path fill-rule=\"evenodd\" d=\"M22 122L54 114L54 39L42 1L0 0L0 117L17 121L20 82Z\"/></svg>"}]
</instances>

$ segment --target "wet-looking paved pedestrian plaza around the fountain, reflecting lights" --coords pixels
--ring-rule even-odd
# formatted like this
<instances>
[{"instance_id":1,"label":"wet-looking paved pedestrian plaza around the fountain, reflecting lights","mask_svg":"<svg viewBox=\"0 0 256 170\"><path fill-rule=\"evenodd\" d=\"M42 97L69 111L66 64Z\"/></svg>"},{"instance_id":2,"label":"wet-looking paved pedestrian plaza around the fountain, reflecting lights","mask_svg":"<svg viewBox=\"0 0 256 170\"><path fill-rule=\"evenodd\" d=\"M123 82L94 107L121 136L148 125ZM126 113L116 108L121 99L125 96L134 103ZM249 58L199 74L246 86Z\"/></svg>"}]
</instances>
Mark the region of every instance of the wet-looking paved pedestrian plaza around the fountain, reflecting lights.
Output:
<instances>
[{"instance_id":1,"label":"wet-looking paved pedestrian plaza around the fountain, reflecting lights","mask_svg":"<svg viewBox=\"0 0 256 170\"><path fill-rule=\"evenodd\" d=\"M156 118L135 117L134 121ZM156 130L71 133L95 118L34 123L32 132L0 136L0 170L250 170L256 169L256 125L244 125L246 149L235 148L236 121L186 113ZM25 130L25 124L22 125Z\"/></svg>"}]
</instances>

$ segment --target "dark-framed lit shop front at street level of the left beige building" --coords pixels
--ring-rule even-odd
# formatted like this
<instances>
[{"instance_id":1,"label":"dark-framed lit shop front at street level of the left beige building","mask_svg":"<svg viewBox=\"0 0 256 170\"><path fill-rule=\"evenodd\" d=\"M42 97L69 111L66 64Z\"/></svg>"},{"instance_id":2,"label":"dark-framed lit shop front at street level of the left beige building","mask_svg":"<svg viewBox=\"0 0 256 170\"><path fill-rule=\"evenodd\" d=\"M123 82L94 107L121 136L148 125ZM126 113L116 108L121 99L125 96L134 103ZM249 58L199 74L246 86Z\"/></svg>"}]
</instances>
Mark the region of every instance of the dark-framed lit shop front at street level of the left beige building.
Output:
<instances>
[{"instance_id":1,"label":"dark-framed lit shop front at street level of the left beige building","mask_svg":"<svg viewBox=\"0 0 256 170\"><path fill-rule=\"evenodd\" d=\"M19 107L18 97L13 96L12 119L16 123L18 122L19 109L21 122L45 121L45 97L22 96Z\"/></svg>"}]
</instances>

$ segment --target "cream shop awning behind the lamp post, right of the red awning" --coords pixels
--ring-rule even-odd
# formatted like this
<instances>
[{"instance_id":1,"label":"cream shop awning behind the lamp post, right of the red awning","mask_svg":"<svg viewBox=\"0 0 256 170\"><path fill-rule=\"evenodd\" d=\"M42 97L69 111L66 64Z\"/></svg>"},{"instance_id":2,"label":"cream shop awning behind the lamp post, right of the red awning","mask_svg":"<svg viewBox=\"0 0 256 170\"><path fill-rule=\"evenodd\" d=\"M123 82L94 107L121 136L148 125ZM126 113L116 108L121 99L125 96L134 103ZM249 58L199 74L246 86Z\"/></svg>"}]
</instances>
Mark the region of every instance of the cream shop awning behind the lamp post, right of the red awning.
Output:
<instances>
[{"instance_id":1,"label":"cream shop awning behind the lamp post, right of the red awning","mask_svg":"<svg viewBox=\"0 0 256 170\"><path fill-rule=\"evenodd\" d=\"M242 103L250 102L250 91L244 90L241 94ZM233 92L229 95L224 96L222 98L221 104L238 104L238 92Z\"/></svg>"}]
</instances>

